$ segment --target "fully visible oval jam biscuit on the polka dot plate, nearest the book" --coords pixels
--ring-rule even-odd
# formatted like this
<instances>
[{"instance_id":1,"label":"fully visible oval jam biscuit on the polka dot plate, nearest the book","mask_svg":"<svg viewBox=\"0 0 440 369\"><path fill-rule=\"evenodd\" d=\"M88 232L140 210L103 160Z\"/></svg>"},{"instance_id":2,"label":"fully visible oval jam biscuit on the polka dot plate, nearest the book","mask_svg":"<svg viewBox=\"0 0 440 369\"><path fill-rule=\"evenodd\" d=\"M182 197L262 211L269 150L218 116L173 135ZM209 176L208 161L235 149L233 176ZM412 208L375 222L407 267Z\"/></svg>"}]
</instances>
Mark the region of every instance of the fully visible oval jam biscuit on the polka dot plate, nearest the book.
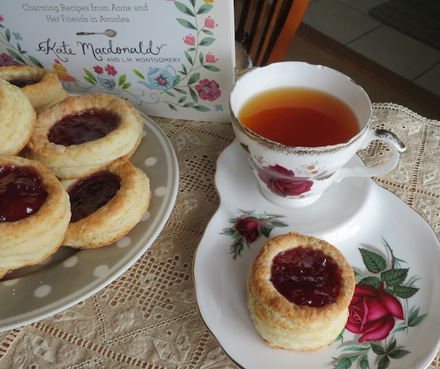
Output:
<instances>
[{"instance_id":1,"label":"fully visible oval jam biscuit on the polka dot plate, nearest the book","mask_svg":"<svg viewBox=\"0 0 440 369\"><path fill-rule=\"evenodd\" d=\"M87 176L140 143L142 119L122 98L68 97L37 116L28 157L47 165L61 179Z\"/></svg>"}]
</instances>

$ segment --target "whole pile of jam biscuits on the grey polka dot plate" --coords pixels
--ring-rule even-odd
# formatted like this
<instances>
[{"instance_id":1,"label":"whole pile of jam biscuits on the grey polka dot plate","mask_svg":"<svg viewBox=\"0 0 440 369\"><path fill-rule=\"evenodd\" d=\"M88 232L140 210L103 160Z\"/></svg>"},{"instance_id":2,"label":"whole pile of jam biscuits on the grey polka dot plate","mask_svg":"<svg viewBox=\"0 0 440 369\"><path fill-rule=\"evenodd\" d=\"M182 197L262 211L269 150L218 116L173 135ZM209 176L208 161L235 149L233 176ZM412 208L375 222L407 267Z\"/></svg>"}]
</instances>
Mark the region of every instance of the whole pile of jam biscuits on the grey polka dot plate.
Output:
<instances>
[{"instance_id":1,"label":"whole pile of jam biscuits on the grey polka dot plate","mask_svg":"<svg viewBox=\"0 0 440 369\"><path fill-rule=\"evenodd\" d=\"M141 137L139 112L121 98L69 97L51 70L0 67L0 200L17 196L8 209L0 201L0 278L62 244L92 249L126 235L151 199L148 177L129 161ZM28 172L36 179L23 180ZM32 212L23 204L35 191L45 200ZM15 207L28 214L11 221Z\"/></svg>"}]
</instances>

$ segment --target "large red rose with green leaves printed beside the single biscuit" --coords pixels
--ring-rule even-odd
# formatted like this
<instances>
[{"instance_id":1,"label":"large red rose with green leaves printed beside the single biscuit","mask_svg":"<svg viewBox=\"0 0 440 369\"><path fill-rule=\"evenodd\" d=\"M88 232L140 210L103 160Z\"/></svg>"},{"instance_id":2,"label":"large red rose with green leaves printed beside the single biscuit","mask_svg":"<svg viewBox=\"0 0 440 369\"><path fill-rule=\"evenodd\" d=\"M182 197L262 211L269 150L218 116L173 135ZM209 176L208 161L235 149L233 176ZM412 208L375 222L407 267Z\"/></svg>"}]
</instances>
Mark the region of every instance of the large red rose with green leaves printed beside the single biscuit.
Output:
<instances>
[{"instance_id":1,"label":"large red rose with green leaves printed beside the single biscuit","mask_svg":"<svg viewBox=\"0 0 440 369\"><path fill-rule=\"evenodd\" d=\"M428 314L419 314L420 307L410 306L408 300L419 288L415 283L417 276L408 277L410 268L402 268L406 261L398 259L393 249L382 238L389 259L367 249L360 248L362 261L369 272L361 274L355 271L355 293L349 306L347 324L335 339L343 346L344 333L348 330L355 334L356 341L342 348L342 352L353 352L333 358L333 368L345 369L356 366L361 369L386 369L391 359L401 359L410 354L404 346L397 344L401 335L408 335L408 330L421 324ZM372 355L371 355L372 354ZM378 361L377 361L378 360Z\"/></svg>"}]
</instances>

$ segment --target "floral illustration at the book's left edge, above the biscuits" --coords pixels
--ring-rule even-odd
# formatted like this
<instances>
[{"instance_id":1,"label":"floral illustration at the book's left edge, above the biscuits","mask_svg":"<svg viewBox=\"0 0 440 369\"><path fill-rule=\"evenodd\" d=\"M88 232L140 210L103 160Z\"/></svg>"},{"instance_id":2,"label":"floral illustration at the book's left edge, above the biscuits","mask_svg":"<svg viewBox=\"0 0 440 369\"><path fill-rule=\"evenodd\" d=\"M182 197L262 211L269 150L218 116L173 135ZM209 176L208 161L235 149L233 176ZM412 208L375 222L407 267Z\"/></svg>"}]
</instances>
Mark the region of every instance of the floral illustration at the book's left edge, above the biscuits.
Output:
<instances>
[{"instance_id":1,"label":"floral illustration at the book's left edge, above the biscuits","mask_svg":"<svg viewBox=\"0 0 440 369\"><path fill-rule=\"evenodd\" d=\"M10 65L31 65L43 68L40 61L34 56L23 50L19 41L23 41L23 37L19 32L11 32L9 28L3 25L4 19L0 15L0 43L6 45L6 51L0 54L0 67ZM3 32L4 29L4 32ZM17 43L15 43L17 41ZM15 43L15 45L13 44Z\"/></svg>"}]
</instances>

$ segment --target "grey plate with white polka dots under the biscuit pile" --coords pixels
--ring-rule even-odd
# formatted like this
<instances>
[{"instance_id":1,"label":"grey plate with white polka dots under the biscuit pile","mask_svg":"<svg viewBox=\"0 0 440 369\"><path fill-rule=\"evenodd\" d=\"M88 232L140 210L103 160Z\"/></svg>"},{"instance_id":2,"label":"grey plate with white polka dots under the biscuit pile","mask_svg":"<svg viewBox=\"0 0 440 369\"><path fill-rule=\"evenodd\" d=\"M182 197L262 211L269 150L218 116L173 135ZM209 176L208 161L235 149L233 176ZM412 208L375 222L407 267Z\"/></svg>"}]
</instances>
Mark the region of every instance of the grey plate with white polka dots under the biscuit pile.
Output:
<instances>
[{"instance_id":1,"label":"grey plate with white polka dots under the biscuit pile","mask_svg":"<svg viewBox=\"0 0 440 369\"><path fill-rule=\"evenodd\" d=\"M20 268L0 282L0 331L30 324L77 304L126 271L165 225L177 196L179 169L168 138L150 118L131 162L150 179L151 204L121 240L100 249L61 246L44 262Z\"/></svg>"}]
</instances>

